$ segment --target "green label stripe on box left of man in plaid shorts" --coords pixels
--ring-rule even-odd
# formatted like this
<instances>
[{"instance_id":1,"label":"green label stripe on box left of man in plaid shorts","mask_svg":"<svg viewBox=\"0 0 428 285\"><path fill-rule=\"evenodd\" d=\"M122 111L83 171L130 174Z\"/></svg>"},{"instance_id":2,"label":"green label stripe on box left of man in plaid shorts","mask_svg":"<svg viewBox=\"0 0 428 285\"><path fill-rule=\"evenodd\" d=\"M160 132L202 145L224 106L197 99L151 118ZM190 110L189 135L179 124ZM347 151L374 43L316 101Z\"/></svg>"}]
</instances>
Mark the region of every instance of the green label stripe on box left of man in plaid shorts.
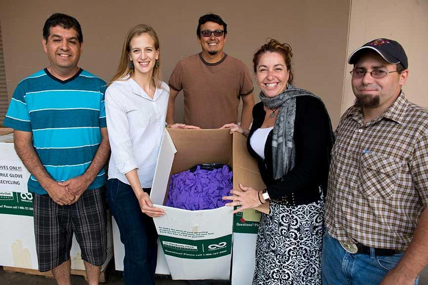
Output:
<instances>
[{"instance_id":1,"label":"green label stripe on box left of man in plaid shorts","mask_svg":"<svg viewBox=\"0 0 428 285\"><path fill-rule=\"evenodd\" d=\"M0 214L33 216L33 194L0 191Z\"/></svg>"}]
</instances>

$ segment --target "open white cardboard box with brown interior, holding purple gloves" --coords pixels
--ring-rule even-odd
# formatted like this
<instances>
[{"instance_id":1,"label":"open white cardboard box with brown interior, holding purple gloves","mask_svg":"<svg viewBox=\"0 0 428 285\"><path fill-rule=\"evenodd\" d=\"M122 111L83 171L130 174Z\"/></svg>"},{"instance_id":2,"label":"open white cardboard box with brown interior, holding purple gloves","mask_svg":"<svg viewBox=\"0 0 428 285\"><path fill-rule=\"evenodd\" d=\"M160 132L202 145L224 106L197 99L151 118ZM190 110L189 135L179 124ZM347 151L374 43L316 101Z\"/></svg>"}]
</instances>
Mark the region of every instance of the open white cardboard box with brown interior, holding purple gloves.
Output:
<instances>
[{"instance_id":1,"label":"open white cardboard box with brown interior, holding purple gloves","mask_svg":"<svg viewBox=\"0 0 428 285\"><path fill-rule=\"evenodd\" d=\"M228 129L165 132L150 198L166 212L154 221L172 279L229 279L233 208L189 211L164 204L171 174L201 163L230 165L234 189L239 189L238 183L264 185L260 184L257 163L247 151L246 140L239 133L230 134ZM254 258L254 253L243 252L243 255Z\"/></svg>"}]
</instances>

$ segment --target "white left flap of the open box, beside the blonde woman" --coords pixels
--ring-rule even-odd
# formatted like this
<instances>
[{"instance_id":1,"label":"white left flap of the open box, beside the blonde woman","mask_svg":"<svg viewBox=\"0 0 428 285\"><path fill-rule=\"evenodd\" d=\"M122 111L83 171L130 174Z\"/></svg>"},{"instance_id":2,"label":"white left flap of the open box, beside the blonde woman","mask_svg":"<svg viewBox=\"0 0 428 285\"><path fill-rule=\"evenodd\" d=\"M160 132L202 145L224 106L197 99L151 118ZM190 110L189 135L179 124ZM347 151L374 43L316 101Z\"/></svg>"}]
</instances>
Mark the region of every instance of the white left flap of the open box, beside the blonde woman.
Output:
<instances>
[{"instance_id":1,"label":"white left flap of the open box, beside the blonde woman","mask_svg":"<svg viewBox=\"0 0 428 285\"><path fill-rule=\"evenodd\" d=\"M150 199L153 204L163 205L165 193L170 181L170 173L174 154L177 152L174 143L171 140L170 134L164 132L161 148L159 151L158 162L156 164L155 176L153 178L152 191Z\"/></svg>"}]
</instances>

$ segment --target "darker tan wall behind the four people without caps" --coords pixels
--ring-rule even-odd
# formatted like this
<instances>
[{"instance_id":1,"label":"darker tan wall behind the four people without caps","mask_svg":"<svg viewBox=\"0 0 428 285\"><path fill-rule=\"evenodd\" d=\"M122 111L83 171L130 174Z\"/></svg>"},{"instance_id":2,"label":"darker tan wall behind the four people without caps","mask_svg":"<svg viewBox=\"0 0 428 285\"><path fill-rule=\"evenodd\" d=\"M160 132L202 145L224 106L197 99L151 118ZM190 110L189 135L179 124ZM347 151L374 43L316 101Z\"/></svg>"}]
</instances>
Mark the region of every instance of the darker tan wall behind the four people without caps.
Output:
<instances>
[{"instance_id":1,"label":"darker tan wall behind the four people without caps","mask_svg":"<svg viewBox=\"0 0 428 285\"><path fill-rule=\"evenodd\" d=\"M333 125L340 117L350 0L75 0L65 5L51 0L1 0L0 6L9 97L20 80L48 65L42 28L54 12L80 21L84 34L80 66L106 81L118 66L128 29L140 23L158 33L163 79L168 81L181 57L201 50L196 39L198 18L214 12L228 24L226 53L241 59L250 71L253 54L266 38L290 43L295 83L324 99ZM258 92L256 86L257 101ZM182 120L182 100L180 93L177 122Z\"/></svg>"}]
</instances>

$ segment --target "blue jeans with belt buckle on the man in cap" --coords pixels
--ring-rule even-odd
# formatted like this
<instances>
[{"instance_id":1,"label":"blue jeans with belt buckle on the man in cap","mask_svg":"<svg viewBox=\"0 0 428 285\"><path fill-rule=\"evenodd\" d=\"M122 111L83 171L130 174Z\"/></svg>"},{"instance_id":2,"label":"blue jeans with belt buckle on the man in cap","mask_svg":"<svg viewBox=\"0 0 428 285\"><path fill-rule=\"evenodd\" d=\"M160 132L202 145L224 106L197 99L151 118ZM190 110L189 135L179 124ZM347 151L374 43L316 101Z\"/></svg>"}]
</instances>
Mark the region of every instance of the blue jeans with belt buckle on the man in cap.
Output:
<instances>
[{"instance_id":1,"label":"blue jeans with belt buckle on the man in cap","mask_svg":"<svg viewBox=\"0 0 428 285\"><path fill-rule=\"evenodd\" d=\"M323 285L378 285L403 253L392 256L352 254L343 249L339 241L326 231L323 239L321 269ZM419 277L415 281L418 285Z\"/></svg>"}]
</instances>

